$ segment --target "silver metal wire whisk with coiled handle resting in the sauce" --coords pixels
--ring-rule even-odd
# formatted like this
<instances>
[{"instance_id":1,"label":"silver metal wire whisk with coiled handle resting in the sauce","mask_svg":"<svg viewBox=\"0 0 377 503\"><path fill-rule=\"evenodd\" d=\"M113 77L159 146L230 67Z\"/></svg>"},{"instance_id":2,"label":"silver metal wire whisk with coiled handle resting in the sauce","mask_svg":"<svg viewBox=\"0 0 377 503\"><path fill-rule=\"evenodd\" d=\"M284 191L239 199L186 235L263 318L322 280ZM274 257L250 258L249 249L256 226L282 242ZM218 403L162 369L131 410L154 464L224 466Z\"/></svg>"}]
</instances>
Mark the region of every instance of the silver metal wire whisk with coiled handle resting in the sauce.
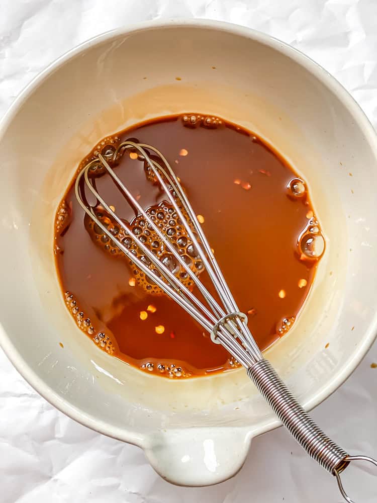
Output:
<instances>
[{"instance_id":1,"label":"silver metal wire whisk with coiled handle resting in the sauce","mask_svg":"<svg viewBox=\"0 0 377 503\"><path fill-rule=\"evenodd\" d=\"M167 201L176 212L179 223L184 227L187 235L193 242L200 260L203 263L215 289L220 302L207 290L197 275L193 273L169 236L161 232L158 225L150 218L148 213L140 206L137 199L119 179L109 162L119 160L126 151L138 153L138 158L144 161L155 183L164 192ZM142 215L149 228L158 235L161 243L169 250L174 260L182 270L187 273L193 284L200 292L195 295L187 288L159 257L154 255L131 228L121 220L107 204L96 189L95 174L100 167L101 173L107 172L115 185L124 195L127 202L139 215ZM82 183L84 181L84 184ZM143 262L136 254L115 236L98 217L95 208L91 207L85 196L85 189L95 196L109 217L137 244L137 247L147 257L149 262ZM124 141L109 155L99 154L98 158L88 162L78 174L75 182L75 195L86 214L102 229L102 231L118 246L124 255L141 270L146 277L152 280L163 292L196 319L205 330L211 334L215 344L221 344L228 352L245 367L247 375L255 384L259 392L270 405L281 423L289 430L305 451L314 458L323 468L337 479L341 494L348 503L353 501L346 494L340 473L351 461L364 460L377 466L377 461L366 456L350 456L348 453L328 438L313 422L307 412L291 394L287 386L280 379L271 364L265 360L255 343L247 326L246 314L240 312L222 272L217 264L207 238L201 228L198 218L187 199L178 178L168 164L165 157L156 148L144 143ZM151 264L151 266L149 265Z\"/></svg>"}]
</instances>

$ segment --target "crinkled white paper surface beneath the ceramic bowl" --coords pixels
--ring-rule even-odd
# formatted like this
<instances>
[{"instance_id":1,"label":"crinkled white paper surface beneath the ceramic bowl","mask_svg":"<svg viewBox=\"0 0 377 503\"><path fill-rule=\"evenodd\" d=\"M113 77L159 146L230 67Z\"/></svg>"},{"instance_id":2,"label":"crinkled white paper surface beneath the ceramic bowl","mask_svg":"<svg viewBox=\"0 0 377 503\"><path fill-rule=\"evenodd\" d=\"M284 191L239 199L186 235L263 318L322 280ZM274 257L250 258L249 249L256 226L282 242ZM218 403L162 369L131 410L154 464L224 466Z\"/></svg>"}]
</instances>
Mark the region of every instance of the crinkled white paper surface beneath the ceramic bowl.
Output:
<instances>
[{"instance_id":1,"label":"crinkled white paper surface beneath the ceramic bowl","mask_svg":"<svg viewBox=\"0 0 377 503\"><path fill-rule=\"evenodd\" d=\"M38 72L75 45L130 23L174 17L230 21L284 40L340 80L377 127L375 0L0 0L0 115ZM348 451L377 456L377 369L370 367L372 362L377 362L376 344L313 417ZM347 488L357 503L375 502L377 477L349 472ZM0 501L340 503L342 499L335 480L282 429L252 442L245 466L233 479L207 488L174 487L156 475L137 447L92 432L54 409L0 350Z\"/></svg>"}]
</instances>

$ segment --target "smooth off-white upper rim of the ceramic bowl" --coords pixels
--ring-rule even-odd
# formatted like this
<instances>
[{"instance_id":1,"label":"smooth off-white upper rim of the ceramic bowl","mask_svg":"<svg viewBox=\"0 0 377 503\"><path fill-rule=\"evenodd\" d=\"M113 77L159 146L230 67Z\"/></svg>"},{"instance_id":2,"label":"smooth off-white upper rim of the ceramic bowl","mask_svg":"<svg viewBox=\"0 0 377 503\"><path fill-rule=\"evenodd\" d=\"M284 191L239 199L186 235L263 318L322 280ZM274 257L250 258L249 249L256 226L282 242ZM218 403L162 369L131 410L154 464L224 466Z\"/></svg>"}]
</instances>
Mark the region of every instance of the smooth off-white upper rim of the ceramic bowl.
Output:
<instances>
[{"instance_id":1,"label":"smooth off-white upper rim of the ceramic bowl","mask_svg":"<svg viewBox=\"0 0 377 503\"><path fill-rule=\"evenodd\" d=\"M198 29L210 29L217 32L226 32L233 35L238 35L244 38L248 38L266 45L285 56L294 59L298 64L303 66L307 71L314 75L324 86L326 86L333 94L335 94L342 104L347 108L358 127L362 130L365 139L371 145L375 156L377 159L377 134L374 130L369 119L366 117L365 113L362 111L357 102L353 97L346 91L346 89L340 84L336 78L331 75L322 66L312 60L309 56L305 55L298 49L290 46L289 44L282 42L270 35L264 34L257 30L236 25L233 23L215 21L208 19L165 19L165 20L153 20L145 21L137 24L126 25L122 28L114 29L96 35L89 40L73 47L72 49L65 52L63 55L59 56L52 63L50 63L44 70L37 74L21 91L21 93L16 97L13 103L10 105L6 111L3 118L0 120L0 142L4 134L6 133L8 127L12 123L13 119L17 115L18 111L21 109L22 105L28 100L28 98L33 94L33 92L52 74L54 71L63 66L71 58L82 53L83 51L90 49L93 46L100 45L101 43L111 41L112 39L117 39L121 36L126 36L128 34L149 31L149 30L159 30L166 28L198 28ZM308 400L302 403L305 410L309 411L319 405L323 400L328 398L336 389L344 383L344 381L352 374L356 369L362 358L365 356L371 345L373 344L377 336L377 312L369 322L369 327L364 333L362 342L355 349L352 358L343 365L343 367L338 371L336 377L328 383L326 386L320 388L314 395L312 395ZM95 416L88 414L85 410L73 406L68 400L64 400L61 396L54 391L46 382L41 379L28 365L27 361L18 353L14 345L12 344L11 337L8 336L5 329L3 328L0 320L0 347L3 348L5 354L12 362L14 367L20 372L24 379L49 403L51 403L58 410L72 418L74 421L82 424L83 426L89 427L94 431L113 437L130 444L138 445L141 448L147 448L148 435L142 436L132 430L126 428L116 428L109 425L106 422L99 421ZM281 423L277 418L271 417L270 420L256 426L255 428L248 427L236 427L245 431L245 434L249 439L251 437L260 435L267 431L270 431ZM210 427L209 427L210 428ZM213 427L211 427L213 428ZM153 432L151 432L153 433Z\"/></svg>"}]
</instances>

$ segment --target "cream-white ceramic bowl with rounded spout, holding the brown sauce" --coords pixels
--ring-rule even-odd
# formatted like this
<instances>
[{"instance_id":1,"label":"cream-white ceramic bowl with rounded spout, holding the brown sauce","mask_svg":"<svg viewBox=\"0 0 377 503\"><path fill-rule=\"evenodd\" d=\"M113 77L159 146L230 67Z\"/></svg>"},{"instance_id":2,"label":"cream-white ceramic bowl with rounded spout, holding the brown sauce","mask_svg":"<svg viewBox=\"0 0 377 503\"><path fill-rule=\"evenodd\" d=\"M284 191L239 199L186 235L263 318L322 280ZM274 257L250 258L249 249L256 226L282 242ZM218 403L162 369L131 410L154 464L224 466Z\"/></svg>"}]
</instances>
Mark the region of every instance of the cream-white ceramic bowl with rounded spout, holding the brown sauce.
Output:
<instances>
[{"instance_id":1,"label":"cream-white ceramic bowl with rounded spout, holding the brown sauce","mask_svg":"<svg viewBox=\"0 0 377 503\"><path fill-rule=\"evenodd\" d=\"M376 332L375 133L303 54L208 21L90 40L39 75L3 119L0 341L60 410L139 445L164 478L206 485L237 472L251 439L278 425L274 415L242 369L169 381L99 351L66 311L52 256L55 209L84 154L130 124L187 111L257 132L309 181L326 254L295 328L267 357L306 409L349 376Z\"/></svg>"}]
</instances>

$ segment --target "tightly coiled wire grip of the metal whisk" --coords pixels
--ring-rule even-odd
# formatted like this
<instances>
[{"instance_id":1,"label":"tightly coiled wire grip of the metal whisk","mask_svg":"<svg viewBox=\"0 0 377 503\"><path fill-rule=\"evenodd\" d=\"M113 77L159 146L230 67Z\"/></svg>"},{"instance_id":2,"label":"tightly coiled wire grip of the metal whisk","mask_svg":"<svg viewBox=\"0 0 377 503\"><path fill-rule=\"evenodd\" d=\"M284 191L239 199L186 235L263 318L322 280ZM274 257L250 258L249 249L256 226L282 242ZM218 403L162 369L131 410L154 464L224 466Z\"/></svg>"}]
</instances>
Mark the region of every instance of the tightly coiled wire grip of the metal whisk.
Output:
<instances>
[{"instance_id":1,"label":"tightly coiled wire grip of the metal whisk","mask_svg":"<svg viewBox=\"0 0 377 503\"><path fill-rule=\"evenodd\" d=\"M249 367L247 375L309 456L332 475L348 465L347 452L318 428L267 360Z\"/></svg>"}]
</instances>

